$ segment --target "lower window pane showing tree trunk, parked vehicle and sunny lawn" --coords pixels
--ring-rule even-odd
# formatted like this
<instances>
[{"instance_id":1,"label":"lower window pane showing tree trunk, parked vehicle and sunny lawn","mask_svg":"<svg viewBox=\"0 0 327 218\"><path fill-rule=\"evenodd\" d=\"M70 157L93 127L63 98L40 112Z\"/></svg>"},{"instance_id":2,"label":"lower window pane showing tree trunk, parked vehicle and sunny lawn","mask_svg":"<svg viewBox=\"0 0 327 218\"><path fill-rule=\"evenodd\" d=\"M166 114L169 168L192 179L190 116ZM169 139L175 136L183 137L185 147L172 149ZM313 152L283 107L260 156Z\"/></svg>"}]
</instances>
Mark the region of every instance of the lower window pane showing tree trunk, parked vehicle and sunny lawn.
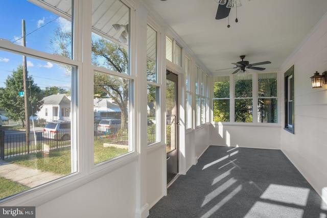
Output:
<instances>
[{"instance_id":1,"label":"lower window pane showing tree trunk, parked vehicle and sunny lawn","mask_svg":"<svg viewBox=\"0 0 327 218\"><path fill-rule=\"evenodd\" d=\"M132 81L94 72L94 162L132 151L129 138L129 99Z\"/></svg>"}]
</instances>

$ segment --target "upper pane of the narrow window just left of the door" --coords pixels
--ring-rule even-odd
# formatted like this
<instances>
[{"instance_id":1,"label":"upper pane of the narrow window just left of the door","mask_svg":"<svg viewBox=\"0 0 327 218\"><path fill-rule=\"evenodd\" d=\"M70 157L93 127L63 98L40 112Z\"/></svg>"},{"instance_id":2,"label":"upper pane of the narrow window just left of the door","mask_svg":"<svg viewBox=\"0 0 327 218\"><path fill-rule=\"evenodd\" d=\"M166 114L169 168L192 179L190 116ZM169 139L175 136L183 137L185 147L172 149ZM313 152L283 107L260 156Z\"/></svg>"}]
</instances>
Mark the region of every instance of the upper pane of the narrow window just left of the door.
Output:
<instances>
[{"instance_id":1,"label":"upper pane of the narrow window just left of the door","mask_svg":"<svg viewBox=\"0 0 327 218\"><path fill-rule=\"evenodd\" d=\"M147 36L147 79L157 82L157 32L149 25Z\"/></svg>"}]
</instances>

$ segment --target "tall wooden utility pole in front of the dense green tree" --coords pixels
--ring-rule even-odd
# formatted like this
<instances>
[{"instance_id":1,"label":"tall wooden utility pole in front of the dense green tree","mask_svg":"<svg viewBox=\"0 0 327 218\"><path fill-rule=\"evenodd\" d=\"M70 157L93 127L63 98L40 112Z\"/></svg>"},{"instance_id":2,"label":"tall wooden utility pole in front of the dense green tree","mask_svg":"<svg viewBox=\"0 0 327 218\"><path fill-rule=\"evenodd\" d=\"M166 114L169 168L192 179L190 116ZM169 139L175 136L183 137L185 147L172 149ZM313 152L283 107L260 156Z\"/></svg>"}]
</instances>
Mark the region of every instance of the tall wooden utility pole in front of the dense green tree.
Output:
<instances>
[{"instance_id":1,"label":"tall wooden utility pole in front of the dense green tree","mask_svg":"<svg viewBox=\"0 0 327 218\"><path fill-rule=\"evenodd\" d=\"M21 35L22 35L22 46L26 46L26 33L25 33L25 20L22 19L21 20ZM29 113L29 98L28 98L28 90L27 90L27 64L26 64L26 56L23 55L22 56L22 76L23 76L23 81L24 81L24 109L25 109L25 140L27 143L27 149L28 149L28 153L30 153L30 140L29 140L29 136L30 136L30 113Z\"/></svg>"}]
</instances>

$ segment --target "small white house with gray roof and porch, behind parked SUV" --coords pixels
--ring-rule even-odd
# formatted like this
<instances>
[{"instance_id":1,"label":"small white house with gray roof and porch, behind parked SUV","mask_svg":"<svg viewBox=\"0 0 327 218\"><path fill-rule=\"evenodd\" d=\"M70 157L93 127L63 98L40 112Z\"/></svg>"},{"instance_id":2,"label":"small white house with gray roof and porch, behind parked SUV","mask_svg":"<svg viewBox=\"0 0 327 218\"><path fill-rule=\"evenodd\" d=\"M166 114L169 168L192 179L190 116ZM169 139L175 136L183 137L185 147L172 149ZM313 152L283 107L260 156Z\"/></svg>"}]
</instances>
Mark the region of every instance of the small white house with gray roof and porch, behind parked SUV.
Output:
<instances>
[{"instance_id":1,"label":"small white house with gray roof and porch, behind parked SUV","mask_svg":"<svg viewBox=\"0 0 327 218\"><path fill-rule=\"evenodd\" d=\"M43 106L38 112L40 119L71 120L71 100L66 94L52 94L43 98Z\"/></svg>"}]
</instances>

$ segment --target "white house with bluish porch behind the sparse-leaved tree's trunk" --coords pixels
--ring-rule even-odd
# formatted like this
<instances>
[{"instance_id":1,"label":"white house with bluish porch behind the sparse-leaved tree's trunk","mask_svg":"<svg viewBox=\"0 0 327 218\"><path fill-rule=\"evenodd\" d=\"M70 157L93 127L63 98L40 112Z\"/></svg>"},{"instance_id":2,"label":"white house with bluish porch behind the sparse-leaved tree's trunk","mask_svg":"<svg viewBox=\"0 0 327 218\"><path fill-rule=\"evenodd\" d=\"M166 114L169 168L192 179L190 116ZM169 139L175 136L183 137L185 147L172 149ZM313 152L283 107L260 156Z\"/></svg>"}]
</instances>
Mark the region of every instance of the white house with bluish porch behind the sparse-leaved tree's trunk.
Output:
<instances>
[{"instance_id":1,"label":"white house with bluish porch behind the sparse-leaved tree's trunk","mask_svg":"<svg viewBox=\"0 0 327 218\"><path fill-rule=\"evenodd\" d=\"M94 99L94 118L95 120L120 118L121 109L112 99Z\"/></svg>"}]
</instances>

